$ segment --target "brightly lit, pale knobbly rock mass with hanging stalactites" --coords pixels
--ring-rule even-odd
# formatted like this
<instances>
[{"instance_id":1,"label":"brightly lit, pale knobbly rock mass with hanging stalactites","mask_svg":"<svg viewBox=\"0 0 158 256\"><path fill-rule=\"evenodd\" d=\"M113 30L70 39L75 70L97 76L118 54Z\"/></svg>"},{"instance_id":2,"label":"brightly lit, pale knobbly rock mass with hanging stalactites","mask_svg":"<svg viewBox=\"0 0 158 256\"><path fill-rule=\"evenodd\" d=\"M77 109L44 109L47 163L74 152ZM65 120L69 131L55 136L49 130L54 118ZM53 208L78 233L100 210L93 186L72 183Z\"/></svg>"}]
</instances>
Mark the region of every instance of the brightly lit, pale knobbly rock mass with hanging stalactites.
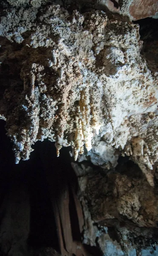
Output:
<instances>
[{"instance_id":1,"label":"brightly lit, pale knobbly rock mass with hanging stalactites","mask_svg":"<svg viewBox=\"0 0 158 256\"><path fill-rule=\"evenodd\" d=\"M119 154L131 156L153 186L158 79L140 54L138 25L103 11L69 15L60 6L36 20L32 7L18 12L1 17L0 56L1 116L16 163L49 138L57 155L71 145L76 160L85 145L92 163L109 168Z\"/></svg>"}]
</instances>

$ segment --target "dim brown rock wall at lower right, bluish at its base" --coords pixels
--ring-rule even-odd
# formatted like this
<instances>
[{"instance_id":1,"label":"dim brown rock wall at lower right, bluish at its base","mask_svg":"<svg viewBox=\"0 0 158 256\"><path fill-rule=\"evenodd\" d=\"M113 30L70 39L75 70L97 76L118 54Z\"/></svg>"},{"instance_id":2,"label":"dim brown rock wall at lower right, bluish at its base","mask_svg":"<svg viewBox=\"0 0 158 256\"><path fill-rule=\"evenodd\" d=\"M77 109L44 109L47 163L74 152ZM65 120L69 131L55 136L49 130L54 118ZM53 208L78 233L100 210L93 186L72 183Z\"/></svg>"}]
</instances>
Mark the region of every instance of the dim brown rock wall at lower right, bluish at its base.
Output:
<instances>
[{"instance_id":1,"label":"dim brown rock wall at lower right, bluish at its base","mask_svg":"<svg viewBox=\"0 0 158 256\"><path fill-rule=\"evenodd\" d=\"M130 161L109 171L85 162L72 166L84 214L83 243L105 256L157 255L157 189L138 166Z\"/></svg>"}]
</instances>

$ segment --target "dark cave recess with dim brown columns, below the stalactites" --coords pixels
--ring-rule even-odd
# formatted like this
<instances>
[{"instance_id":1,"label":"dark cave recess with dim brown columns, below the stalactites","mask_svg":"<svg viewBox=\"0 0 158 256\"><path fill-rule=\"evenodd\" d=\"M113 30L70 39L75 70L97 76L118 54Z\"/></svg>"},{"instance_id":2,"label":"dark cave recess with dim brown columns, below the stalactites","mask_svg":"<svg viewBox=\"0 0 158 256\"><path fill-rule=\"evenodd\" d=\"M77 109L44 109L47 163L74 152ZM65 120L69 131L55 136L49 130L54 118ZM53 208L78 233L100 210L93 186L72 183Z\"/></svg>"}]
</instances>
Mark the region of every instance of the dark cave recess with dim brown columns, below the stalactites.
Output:
<instances>
[{"instance_id":1,"label":"dark cave recess with dim brown columns, below the stalactites","mask_svg":"<svg viewBox=\"0 0 158 256\"><path fill-rule=\"evenodd\" d=\"M29 255L47 255L39 254L44 248L64 256L102 255L99 248L82 244L83 212L77 198L77 177L70 162L71 148L62 148L57 157L55 143L38 141L30 159L15 164L13 144L5 125L0 120L0 233L8 228L15 240L22 234ZM7 211L12 218L9 227ZM17 239L16 243L20 241ZM0 244L0 253L3 247ZM6 255L8 251L3 256Z\"/></svg>"}]
</instances>

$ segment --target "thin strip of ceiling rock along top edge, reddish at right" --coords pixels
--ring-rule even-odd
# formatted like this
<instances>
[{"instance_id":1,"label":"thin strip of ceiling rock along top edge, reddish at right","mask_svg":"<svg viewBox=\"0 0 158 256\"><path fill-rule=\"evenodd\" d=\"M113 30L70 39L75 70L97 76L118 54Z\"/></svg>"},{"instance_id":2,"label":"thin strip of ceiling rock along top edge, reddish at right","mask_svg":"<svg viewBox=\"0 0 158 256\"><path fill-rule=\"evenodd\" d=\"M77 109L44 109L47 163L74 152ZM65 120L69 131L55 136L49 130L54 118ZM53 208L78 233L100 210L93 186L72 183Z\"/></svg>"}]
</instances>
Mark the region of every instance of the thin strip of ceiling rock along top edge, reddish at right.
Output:
<instances>
[{"instance_id":1,"label":"thin strip of ceiling rock along top edge, reddish at right","mask_svg":"<svg viewBox=\"0 0 158 256\"><path fill-rule=\"evenodd\" d=\"M2 0L3 7L33 7L39 9L46 4L59 4L66 9L83 10L93 8L109 10L129 18L140 20L146 17L158 18L157 0Z\"/></svg>"}]
</instances>

